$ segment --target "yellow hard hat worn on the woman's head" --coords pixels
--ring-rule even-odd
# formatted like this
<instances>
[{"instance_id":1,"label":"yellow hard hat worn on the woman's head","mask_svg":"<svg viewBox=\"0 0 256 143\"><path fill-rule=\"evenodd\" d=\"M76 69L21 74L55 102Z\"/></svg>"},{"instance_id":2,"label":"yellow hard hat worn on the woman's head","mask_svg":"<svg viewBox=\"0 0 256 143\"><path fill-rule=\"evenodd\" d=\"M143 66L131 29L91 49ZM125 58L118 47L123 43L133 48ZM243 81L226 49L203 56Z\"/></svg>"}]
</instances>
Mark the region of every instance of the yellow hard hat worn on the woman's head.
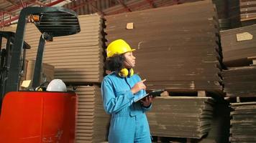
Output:
<instances>
[{"instance_id":1,"label":"yellow hard hat worn on the woman's head","mask_svg":"<svg viewBox=\"0 0 256 143\"><path fill-rule=\"evenodd\" d=\"M112 41L109 46L106 48L106 57L114 56L114 54L124 54L128 51L134 51L135 49L131 49L129 44L122 39L117 39Z\"/></svg>"}]
</instances>

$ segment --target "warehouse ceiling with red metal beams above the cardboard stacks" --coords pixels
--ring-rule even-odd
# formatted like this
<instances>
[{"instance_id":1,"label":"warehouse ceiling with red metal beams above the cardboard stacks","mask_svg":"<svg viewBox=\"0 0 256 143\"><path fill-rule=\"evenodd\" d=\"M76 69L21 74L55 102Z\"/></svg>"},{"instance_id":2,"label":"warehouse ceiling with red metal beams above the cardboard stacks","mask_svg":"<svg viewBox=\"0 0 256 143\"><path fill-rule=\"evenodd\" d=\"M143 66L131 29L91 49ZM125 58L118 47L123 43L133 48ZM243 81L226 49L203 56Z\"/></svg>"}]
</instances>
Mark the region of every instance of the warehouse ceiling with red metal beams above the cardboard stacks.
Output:
<instances>
[{"instance_id":1,"label":"warehouse ceiling with red metal beams above the cardboard stacks","mask_svg":"<svg viewBox=\"0 0 256 143\"><path fill-rule=\"evenodd\" d=\"M27 6L64 6L77 14L119 14L199 0L0 0L0 28L17 23Z\"/></svg>"}]
</instances>

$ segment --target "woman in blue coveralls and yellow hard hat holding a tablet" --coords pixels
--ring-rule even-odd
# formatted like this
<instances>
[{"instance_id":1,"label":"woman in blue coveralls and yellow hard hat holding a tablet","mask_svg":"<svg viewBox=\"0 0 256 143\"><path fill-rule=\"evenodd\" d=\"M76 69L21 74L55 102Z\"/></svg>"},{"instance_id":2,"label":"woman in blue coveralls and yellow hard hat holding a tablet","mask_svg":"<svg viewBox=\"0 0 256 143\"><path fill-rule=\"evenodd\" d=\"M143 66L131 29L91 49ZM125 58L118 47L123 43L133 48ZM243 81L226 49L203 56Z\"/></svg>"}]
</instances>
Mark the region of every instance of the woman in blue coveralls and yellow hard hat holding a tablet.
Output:
<instances>
[{"instance_id":1,"label":"woman in blue coveralls and yellow hard hat holding a tablet","mask_svg":"<svg viewBox=\"0 0 256 143\"><path fill-rule=\"evenodd\" d=\"M129 44L122 39L112 41L106 49L106 69L101 94L104 109L111 114L109 143L150 143L150 128L145 112L151 109L152 97L140 102L146 94L145 79L134 74L135 57Z\"/></svg>"}]
</instances>

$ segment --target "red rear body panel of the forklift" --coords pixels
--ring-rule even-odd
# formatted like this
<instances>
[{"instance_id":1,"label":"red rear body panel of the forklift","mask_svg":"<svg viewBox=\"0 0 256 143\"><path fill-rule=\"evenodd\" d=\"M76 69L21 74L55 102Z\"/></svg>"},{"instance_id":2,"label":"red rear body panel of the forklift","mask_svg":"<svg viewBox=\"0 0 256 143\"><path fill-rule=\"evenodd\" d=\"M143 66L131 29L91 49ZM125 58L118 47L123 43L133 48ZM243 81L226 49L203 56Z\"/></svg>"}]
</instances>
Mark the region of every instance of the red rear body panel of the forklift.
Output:
<instances>
[{"instance_id":1,"label":"red rear body panel of the forklift","mask_svg":"<svg viewBox=\"0 0 256 143\"><path fill-rule=\"evenodd\" d=\"M9 92L0 117L0 142L73 143L76 102L74 92Z\"/></svg>"}]
</instances>

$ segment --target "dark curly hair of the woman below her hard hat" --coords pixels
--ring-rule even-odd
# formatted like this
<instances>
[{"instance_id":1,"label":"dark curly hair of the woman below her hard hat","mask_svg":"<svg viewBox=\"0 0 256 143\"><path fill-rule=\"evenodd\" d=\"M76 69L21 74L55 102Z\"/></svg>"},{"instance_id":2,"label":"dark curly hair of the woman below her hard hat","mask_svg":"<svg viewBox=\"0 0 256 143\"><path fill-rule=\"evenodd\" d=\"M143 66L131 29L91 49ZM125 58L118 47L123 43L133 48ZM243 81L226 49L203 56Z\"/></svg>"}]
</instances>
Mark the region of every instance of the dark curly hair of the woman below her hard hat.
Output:
<instances>
[{"instance_id":1,"label":"dark curly hair of the woman below her hard hat","mask_svg":"<svg viewBox=\"0 0 256 143\"><path fill-rule=\"evenodd\" d=\"M124 54L114 54L105 61L105 69L119 73L124 68Z\"/></svg>"}]
</instances>

